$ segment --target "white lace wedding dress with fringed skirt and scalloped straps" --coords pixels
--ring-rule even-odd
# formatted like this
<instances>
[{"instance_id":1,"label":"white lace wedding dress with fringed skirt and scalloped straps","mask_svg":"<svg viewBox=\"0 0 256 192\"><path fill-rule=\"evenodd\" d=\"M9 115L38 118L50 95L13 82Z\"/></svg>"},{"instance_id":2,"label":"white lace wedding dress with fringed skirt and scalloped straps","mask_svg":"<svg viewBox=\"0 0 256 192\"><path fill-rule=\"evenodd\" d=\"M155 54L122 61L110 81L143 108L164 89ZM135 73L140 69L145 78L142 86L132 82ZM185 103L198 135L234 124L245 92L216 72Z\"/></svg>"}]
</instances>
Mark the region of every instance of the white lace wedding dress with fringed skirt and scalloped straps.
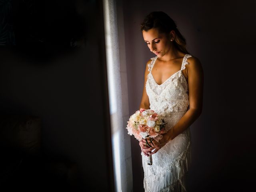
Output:
<instances>
[{"instance_id":1,"label":"white lace wedding dress with fringed skirt and scalloped straps","mask_svg":"<svg viewBox=\"0 0 256 192\"><path fill-rule=\"evenodd\" d=\"M148 64L148 79L146 92L149 97L150 109L164 116L167 130L170 130L188 110L188 84L182 73L186 68L186 54L181 69L170 76L164 83L158 85L151 70L158 56L151 58ZM152 154L152 165L146 163L146 156L142 155L144 170L145 192L184 192L186 191L185 176L191 162L190 128L176 136L155 154Z\"/></svg>"}]
</instances>

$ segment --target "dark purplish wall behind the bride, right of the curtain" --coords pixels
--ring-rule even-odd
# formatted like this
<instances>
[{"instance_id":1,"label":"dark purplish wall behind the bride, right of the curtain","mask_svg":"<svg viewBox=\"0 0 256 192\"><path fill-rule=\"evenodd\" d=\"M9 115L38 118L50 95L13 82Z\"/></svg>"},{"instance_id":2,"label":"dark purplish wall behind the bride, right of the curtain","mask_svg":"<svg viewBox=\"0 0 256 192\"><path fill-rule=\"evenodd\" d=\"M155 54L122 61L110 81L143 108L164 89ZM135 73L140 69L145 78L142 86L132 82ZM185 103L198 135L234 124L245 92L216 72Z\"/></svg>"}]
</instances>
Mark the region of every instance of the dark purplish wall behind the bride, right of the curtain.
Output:
<instances>
[{"instance_id":1,"label":"dark purplish wall behind the bride, right of the curtain","mask_svg":"<svg viewBox=\"0 0 256 192\"><path fill-rule=\"evenodd\" d=\"M124 1L130 115L138 110L146 62L155 55L140 23L161 10L177 22L204 69L201 116L190 127L188 191L249 191L255 179L256 4L247 1ZM143 191L138 141L131 139L134 192Z\"/></svg>"}]
</instances>

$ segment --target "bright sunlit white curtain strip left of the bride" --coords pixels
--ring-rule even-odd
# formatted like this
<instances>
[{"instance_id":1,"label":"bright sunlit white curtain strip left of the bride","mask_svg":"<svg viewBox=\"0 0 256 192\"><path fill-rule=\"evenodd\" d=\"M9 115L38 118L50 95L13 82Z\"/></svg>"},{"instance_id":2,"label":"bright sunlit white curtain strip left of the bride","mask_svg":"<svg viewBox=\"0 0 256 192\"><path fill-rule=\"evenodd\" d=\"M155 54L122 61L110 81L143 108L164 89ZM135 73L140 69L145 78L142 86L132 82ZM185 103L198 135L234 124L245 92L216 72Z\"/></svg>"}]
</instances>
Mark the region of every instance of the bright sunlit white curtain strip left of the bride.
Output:
<instances>
[{"instance_id":1,"label":"bright sunlit white curtain strip left of the bride","mask_svg":"<svg viewBox=\"0 0 256 192\"><path fill-rule=\"evenodd\" d=\"M129 146L130 138L128 138L127 132L124 132L124 130L126 130L124 127L124 119L128 116L128 114L126 114L128 107L127 109L126 107L124 107L124 109L122 107L122 99L125 98L122 96L122 91L123 94L128 95L128 88L126 80L121 83L115 1L103 0L103 10L115 190L116 192L127 192L132 189L132 165ZM126 71L122 73L126 74ZM124 76L122 76L122 78L124 78ZM124 142L128 144L125 145Z\"/></svg>"}]
</instances>

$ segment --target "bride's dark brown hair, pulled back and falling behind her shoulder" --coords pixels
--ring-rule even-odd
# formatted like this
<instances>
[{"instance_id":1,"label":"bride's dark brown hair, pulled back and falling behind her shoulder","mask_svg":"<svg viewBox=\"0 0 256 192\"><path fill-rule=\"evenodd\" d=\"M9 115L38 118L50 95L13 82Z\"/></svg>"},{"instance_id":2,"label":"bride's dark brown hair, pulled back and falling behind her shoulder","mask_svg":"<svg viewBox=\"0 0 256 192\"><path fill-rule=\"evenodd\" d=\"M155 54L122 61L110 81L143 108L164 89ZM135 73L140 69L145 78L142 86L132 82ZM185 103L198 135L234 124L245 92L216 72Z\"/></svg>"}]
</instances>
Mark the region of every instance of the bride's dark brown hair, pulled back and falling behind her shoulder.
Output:
<instances>
[{"instance_id":1,"label":"bride's dark brown hair, pulled back and falling behind her shoulder","mask_svg":"<svg viewBox=\"0 0 256 192\"><path fill-rule=\"evenodd\" d=\"M165 33L167 36L169 36L170 31L174 30L174 46L181 52L189 54L186 50L186 39L182 36L176 23L172 18L170 18L170 16L168 16L168 14L162 11L154 11L148 14L140 24L140 29L141 31L148 31L152 28L158 29L159 33Z\"/></svg>"}]
</instances>

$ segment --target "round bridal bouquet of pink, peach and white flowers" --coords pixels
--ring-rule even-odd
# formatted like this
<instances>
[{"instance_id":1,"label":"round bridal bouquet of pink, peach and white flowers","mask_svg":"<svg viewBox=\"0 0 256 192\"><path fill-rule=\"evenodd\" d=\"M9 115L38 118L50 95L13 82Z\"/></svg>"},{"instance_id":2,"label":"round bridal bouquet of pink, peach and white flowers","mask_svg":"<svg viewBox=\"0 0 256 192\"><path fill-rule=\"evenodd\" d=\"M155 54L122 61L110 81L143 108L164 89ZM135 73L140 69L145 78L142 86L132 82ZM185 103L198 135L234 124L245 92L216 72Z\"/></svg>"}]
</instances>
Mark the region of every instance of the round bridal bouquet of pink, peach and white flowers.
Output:
<instances>
[{"instance_id":1,"label":"round bridal bouquet of pink, peach and white flowers","mask_svg":"<svg viewBox=\"0 0 256 192\"><path fill-rule=\"evenodd\" d=\"M129 135L141 141L142 138L150 138L150 142L146 140L146 145L152 147L153 139L157 142L163 137L165 133L165 121L154 110L143 109L137 110L132 116L130 116L127 122L126 129ZM147 164L152 165L152 156L147 157Z\"/></svg>"}]
</instances>

